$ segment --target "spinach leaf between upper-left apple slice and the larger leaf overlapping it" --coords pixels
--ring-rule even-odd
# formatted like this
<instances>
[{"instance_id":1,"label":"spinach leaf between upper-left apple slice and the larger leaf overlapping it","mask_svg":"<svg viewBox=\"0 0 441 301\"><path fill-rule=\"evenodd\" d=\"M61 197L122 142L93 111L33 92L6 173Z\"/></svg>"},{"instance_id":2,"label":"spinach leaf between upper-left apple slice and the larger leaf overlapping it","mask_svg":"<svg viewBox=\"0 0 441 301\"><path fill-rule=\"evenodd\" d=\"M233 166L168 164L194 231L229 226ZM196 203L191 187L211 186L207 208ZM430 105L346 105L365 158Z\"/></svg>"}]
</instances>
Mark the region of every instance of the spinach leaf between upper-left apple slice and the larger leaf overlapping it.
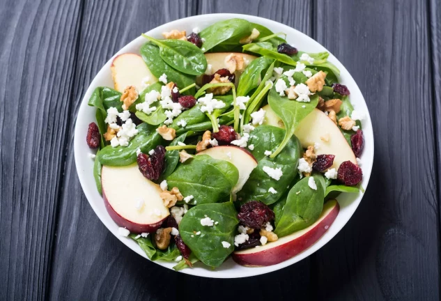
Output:
<instances>
[{"instance_id":1,"label":"spinach leaf between upper-left apple slice and the larger leaf overlapping it","mask_svg":"<svg viewBox=\"0 0 441 301\"><path fill-rule=\"evenodd\" d=\"M174 82L178 88L184 88L196 82L196 77L193 75L186 75L179 72L176 69L171 68L170 65L165 63L160 56L160 49L152 43L144 44L141 49L139 49L142 59L146 62L148 69L159 78L162 74L167 75L168 82ZM204 70L205 71L205 70ZM186 93L193 95L194 88L189 89Z\"/></svg>"}]
</instances>

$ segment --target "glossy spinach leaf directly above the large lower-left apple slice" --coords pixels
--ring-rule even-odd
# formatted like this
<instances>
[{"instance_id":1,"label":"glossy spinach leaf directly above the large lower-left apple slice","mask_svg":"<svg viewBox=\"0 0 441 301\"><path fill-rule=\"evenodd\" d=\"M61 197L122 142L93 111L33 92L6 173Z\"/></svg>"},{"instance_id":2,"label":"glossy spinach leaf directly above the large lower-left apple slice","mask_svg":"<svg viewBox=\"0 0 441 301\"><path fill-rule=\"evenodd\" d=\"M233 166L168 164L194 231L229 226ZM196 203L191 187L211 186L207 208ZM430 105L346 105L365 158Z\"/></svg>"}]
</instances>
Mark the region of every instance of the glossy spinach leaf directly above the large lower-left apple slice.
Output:
<instances>
[{"instance_id":1,"label":"glossy spinach leaf directly above the large lower-left apple slice","mask_svg":"<svg viewBox=\"0 0 441 301\"><path fill-rule=\"evenodd\" d=\"M140 148L143 153L148 153L162 141L156 128L147 123L141 123L137 126L138 134L129 142L128 146L106 146L102 148L97 155L97 159L103 165L109 166L127 166L137 162L137 149ZM96 160L96 159L95 159Z\"/></svg>"}]
</instances>

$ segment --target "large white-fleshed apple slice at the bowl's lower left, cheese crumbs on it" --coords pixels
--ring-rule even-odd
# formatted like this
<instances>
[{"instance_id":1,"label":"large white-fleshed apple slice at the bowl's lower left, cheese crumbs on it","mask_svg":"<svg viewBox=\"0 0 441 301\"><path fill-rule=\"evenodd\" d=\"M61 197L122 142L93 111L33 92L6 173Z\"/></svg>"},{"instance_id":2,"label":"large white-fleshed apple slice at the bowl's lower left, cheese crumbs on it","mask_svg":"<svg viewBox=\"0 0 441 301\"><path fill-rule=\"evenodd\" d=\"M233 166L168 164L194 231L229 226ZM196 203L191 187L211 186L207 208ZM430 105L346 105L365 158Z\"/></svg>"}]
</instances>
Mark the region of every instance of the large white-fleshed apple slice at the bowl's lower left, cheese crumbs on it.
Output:
<instances>
[{"instance_id":1,"label":"large white-fleshed apple slice at the bowl's lower left, cheese crumbs on it","mask_svg":"<svg viewBox=\"0 0 441 301\"><path fill-rule=\"evenodd\" d=\"M110 217L130 232L153 232L170 214L160 197L160 186L144 178L137 164L103 166L101 185Z\"/></svg>"}]
</instances>

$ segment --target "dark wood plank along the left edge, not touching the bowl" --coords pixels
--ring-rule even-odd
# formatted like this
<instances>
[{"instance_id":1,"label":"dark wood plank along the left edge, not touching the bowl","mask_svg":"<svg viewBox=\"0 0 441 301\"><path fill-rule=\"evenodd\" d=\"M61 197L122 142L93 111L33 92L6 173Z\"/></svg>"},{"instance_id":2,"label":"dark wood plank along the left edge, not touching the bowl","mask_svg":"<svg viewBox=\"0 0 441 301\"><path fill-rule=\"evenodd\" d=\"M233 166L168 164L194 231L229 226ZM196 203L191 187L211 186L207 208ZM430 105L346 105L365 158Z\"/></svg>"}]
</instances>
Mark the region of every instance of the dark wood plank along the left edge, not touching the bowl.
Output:
<instances>
[{"instance_id":1,"label":"dark wood plank along the left edge, not touching the bowl","mask_svg":"<svg viewBox=\"0 0 441 301\"><path fill-rule=\"evenodd\" d=\"M82 6L0 6L0 300L43 300Z\"/></svg>"}]
</instances>

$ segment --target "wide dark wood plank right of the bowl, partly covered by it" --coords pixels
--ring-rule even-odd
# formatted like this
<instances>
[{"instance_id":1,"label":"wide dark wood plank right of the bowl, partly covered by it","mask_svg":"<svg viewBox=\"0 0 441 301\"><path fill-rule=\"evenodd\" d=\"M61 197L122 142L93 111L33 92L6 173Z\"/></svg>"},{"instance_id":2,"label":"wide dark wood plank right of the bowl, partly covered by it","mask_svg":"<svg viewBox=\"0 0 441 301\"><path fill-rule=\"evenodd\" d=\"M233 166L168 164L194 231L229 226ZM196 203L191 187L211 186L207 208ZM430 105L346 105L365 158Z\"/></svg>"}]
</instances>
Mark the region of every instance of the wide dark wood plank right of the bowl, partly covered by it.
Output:
<instances>
[{"instance_id":1,"label":"wide dark wood plank right of the bowl, partly covered by it","mask_svg":"<svg viewBox=\"0 0 441 301\"><path fill-rule=\"evenodd\" d=\"M376 134L366 196L317 253L317 297L439 300L427 3L318 0L316 8L316 39L355 78Z\"/></svg>"}]
</instances>

